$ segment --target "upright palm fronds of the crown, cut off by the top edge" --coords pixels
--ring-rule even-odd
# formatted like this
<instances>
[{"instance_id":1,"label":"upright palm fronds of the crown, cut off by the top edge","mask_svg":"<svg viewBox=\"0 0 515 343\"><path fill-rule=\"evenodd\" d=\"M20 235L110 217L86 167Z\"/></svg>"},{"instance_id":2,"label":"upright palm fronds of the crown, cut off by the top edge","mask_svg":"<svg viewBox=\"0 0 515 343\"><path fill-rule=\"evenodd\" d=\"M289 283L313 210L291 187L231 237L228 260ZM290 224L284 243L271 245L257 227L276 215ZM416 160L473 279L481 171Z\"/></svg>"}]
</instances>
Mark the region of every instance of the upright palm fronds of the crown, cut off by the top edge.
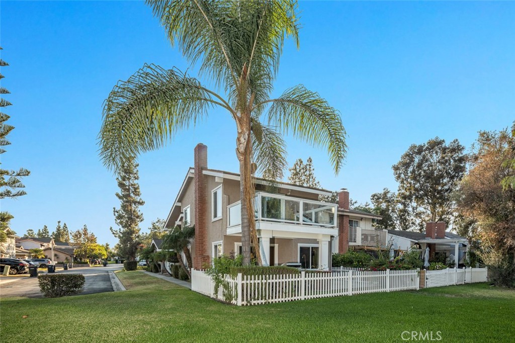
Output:
<instances>
[{"instance_id":1,"label":"upright palm fronds of the crown, cut off by the top edge","mask_svg":"<svg viewBox=\"0 0 515 343\"><path fill-rule=\"evenodd\" d=\"M184 57L201 61L200 75L230 94L256 101L268 98L283 42L298 44L297 2L292 0L147 0L171 44ZM245 74L245 75L244 75ZM242 77L244 87L241 88ZM243 94L242 94L243 92Z\"/></svg>"}]
</instances>

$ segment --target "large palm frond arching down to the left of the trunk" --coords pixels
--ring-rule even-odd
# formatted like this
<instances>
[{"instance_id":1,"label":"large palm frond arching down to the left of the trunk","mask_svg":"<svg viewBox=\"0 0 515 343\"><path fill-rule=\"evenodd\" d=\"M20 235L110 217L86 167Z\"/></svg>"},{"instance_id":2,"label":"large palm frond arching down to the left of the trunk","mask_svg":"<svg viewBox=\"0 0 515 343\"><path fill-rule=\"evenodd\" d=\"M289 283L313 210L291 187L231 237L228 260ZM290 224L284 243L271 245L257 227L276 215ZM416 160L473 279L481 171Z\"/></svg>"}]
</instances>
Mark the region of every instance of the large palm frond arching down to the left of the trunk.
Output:
<instances>
[{"instance_id":1,"label":"large palm frond arching down to the left of the trunk","mask_svg":"<svg viewBox=\"0 0 515 343\"><path fill-rule=\"evenodd\" d=\"M105 101L98 134L100 157L117 171L123 161L162 147L177 131L195 125L212 106L230 110L223 101L178 70L144 65L127 81L118 82Z\"/></svg>"}]
</instances>

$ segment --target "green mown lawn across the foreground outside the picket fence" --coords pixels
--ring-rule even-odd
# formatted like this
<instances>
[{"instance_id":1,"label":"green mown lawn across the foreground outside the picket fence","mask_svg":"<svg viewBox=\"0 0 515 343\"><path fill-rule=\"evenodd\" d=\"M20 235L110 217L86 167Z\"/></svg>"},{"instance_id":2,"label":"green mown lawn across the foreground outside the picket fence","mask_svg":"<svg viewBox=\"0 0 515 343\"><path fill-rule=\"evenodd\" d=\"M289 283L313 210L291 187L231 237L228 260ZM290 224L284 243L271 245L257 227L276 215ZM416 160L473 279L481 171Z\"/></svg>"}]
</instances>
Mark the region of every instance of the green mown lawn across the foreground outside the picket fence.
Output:
<instances>
[{"instance_id":1,"label":"green mown lawn across the foreground outside the picket fence","mask_svg":"<svg viewBox=\"0 0 515 343\"><path fill-rule=\"evenodd\" d=\"M486 284L237 307L142 272L117 275L127 291L0 300L1 340L26 342L31 332L53 343L402 342L403 331L440 331L442 342L515 337L515 291Z\"/></svg>"}]
</instances>

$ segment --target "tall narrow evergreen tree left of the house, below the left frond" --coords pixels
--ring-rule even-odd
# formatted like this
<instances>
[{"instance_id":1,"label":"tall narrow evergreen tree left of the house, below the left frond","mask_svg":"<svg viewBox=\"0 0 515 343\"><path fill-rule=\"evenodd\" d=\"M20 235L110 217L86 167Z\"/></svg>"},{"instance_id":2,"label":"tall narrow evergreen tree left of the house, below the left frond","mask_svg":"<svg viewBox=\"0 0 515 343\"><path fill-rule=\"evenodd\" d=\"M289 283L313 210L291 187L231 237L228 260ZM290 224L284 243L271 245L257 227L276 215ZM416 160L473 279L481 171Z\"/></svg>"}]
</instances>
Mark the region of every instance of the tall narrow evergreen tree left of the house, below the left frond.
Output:
<instances>
[{"instance_id":1,"label":"tall narrow evergreen tree left of the house, below the left frond","mask_svg":"<svg viewBox=\"0 0 515 343\"><path fill-rule=\"evenodd\" d=\"M136 259L136 251L141 238L140 222L143 221L143 214L139 207L145 202L141 199L139 179L138 164L134 158L122 164L119 176L116 178L120 188L116 197L120 200L121 205L118 210L113 209L113 214L114 221L120 228L118 230L110 229L119 240L118 254L129 261Z\"/></svg>"}]
</instances>

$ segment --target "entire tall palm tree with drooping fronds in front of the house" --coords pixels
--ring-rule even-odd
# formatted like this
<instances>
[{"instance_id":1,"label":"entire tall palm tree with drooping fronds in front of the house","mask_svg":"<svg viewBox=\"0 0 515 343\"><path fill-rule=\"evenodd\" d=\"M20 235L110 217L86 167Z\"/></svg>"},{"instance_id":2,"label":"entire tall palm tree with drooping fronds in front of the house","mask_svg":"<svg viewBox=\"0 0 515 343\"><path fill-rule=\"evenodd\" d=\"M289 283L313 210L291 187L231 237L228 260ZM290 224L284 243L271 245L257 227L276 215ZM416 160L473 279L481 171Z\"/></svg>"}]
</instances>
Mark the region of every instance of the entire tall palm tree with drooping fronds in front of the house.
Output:
<instances>
[{"instance_id":1,"label":"entire tall palm tree with drooping fronds in front of the house","mask_svg":"<svg viewBox=\"0 0 515 343\"><path fill-rule=\"evenodd\" d=\"M244 264L251 246L260 261L255 232L253 167L279 180L286 167L282 134L293 134L326 149L335 173L346 154L345 129L336 109L302 84L272 98L283 42L299 44L299 16L293 0L165 0L146 2L200 75L214 89L172 68L145 64L118 82L105 101L99 133L100 157L117 171L131 156L158 149L176 132L195 125L214 107L227 110L236 123L236 157Z\"/></svg>"}]
</instances>

